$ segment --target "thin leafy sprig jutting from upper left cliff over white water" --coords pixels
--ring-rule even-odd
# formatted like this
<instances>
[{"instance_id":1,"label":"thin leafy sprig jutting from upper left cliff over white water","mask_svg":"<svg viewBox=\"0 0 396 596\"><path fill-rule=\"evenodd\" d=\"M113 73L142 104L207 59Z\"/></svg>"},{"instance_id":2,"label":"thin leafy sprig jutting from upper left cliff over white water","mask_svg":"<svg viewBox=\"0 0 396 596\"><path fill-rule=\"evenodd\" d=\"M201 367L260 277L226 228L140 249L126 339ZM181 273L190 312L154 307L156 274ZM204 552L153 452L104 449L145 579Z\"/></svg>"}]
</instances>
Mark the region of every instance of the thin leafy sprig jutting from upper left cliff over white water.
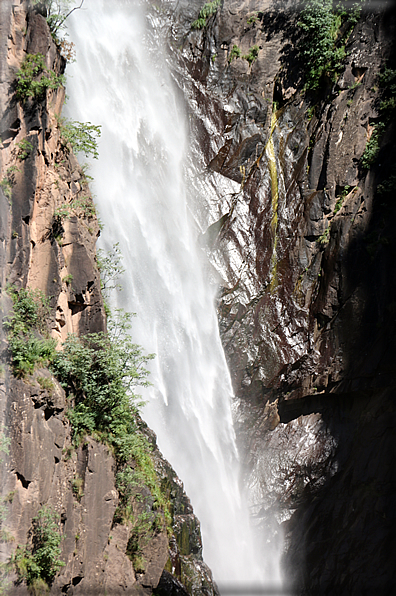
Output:
<instances>
[{"instance_id":1,"label":"thin leafy sprig jutting from upper left cliff over white water","mask_svg":"<svg viewBox=\"0 0 396 596\"><path fill-rule=\"evenodd\" d=\"M86 157L92 155L98 159L98 141L101 127L90 122L76 122L58 118L61 140L65 146L70 145L75 153L84 153Z\"/></svg>"}]
</instances>

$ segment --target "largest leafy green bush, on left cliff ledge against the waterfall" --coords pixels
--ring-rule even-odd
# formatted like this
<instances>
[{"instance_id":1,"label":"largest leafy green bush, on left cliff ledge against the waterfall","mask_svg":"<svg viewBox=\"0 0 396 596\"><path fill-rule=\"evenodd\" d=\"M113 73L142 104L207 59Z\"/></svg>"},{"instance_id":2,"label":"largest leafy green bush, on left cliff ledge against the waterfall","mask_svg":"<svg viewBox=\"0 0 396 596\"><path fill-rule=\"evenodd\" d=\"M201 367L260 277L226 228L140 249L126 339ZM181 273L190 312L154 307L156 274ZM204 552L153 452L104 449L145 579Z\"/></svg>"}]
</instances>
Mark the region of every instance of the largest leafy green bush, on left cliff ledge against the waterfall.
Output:
<instances>
[{"instance_id":1,"label":"largest leafy green bush, on left cliff ledge against the waterfall","mask_svg":"<svg viewBox=\"0 0 396 596\"><path fill-rule=\"evenodd\" d=\"M153 356L144 355L132 342L131 316L120 311L117 315L109 321L109 333L69 335L52 368L74 402L68 412L74 439L96 433L120 461L126 461L133 450L140 406L133 390L149 384L145 365Z\"/></svg>"}]
</instances>

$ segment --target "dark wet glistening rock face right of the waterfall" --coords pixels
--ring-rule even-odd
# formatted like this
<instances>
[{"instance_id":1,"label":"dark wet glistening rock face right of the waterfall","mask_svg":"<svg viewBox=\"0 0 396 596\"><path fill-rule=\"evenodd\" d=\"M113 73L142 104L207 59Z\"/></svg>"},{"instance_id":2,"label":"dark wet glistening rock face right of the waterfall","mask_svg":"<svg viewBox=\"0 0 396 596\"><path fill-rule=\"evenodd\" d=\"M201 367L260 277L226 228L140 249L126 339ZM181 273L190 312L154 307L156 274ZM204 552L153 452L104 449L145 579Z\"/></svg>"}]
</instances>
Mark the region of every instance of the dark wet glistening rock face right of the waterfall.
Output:
<instances>
[{"instance_id":1,"label":"dark wet glistening rock face right of the waterfall","mask_svg":"<svg viewBox=\"0 0 396 596\"><path fill-rule=\"evenodd\" d=\"M170 44L182 46L174 71L196 139L192 200L221 285L257 526L283 531L301 592L385 590L396 214L394 190L376 189L392 175L394 123L376 164L360 159L379 119L378 75L396 66L394 9L362 13L337 81L310 97L295 3L225 0L200 31L200 6L189 5L175 6ZM255 45L251 64L232 57Z\"/></svg>"}]
</instances>

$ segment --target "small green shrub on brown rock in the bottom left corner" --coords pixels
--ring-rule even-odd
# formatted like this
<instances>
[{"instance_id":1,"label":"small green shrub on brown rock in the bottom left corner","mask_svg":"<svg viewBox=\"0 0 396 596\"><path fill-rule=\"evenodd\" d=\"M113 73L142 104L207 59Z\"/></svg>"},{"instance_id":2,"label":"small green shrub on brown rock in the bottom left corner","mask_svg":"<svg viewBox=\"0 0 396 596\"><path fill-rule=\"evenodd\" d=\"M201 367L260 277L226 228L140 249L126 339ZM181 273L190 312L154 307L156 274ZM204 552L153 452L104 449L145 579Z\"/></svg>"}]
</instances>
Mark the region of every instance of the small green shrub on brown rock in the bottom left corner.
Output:
<instances>
[{"instance_id":1,"label":"small green shrub on brown rock in the bottom left corner","mask_svg":"<svg viewBox=\"0 0 396 596\"><path fill-rule=\"evenodd\" d=\"M49 506L42 507L33 518L31 544L19 545L14 554L18 579L33 590L51 586L55 575L64 566L60 560L62 537L59 515Z\"/></svg>"}]
</instances>

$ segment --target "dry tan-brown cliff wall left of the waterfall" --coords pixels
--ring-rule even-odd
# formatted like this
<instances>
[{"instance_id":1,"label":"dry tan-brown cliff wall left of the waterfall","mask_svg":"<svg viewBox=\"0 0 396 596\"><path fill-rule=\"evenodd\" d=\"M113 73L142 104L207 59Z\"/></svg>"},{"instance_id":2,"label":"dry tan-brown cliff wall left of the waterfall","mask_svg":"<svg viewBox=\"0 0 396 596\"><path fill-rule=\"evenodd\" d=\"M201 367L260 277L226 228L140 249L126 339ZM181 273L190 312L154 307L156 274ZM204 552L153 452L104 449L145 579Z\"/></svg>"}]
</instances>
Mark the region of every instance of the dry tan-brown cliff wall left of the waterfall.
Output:
<instances>
[{"instance_id":1,"label":"dry tan-brown cliff wall left of the waterfall","mask_svg":"<svg viewBox=\"0 0 396 596\"><path fill-rule=\"evenodd\" d=\"M28 1L2 1L0 15L1 314L7 320L12 308L8 287L41 290L60 347L70 333L106 330L95 248L99 225L85 170L61 137L64 87L25 101L16 96L16 74L29 54L42 54L49 71L63 73L59 43ZM64 389L46 368L13 376L3 326L1 333L0 593L32 593L12 557L18 545L31 543L34 518L44 506L59 515L62 536L63 566L51 593L217 594L202 559L199 521L154 433L138 420L152 445L173 530L147 533L137 523L156 515L149 486L134 485L132 516L120 520L113 451L91 437L73 444ZM132 540L141 543L138 566Z\"/></svg>"}]
</instances>

